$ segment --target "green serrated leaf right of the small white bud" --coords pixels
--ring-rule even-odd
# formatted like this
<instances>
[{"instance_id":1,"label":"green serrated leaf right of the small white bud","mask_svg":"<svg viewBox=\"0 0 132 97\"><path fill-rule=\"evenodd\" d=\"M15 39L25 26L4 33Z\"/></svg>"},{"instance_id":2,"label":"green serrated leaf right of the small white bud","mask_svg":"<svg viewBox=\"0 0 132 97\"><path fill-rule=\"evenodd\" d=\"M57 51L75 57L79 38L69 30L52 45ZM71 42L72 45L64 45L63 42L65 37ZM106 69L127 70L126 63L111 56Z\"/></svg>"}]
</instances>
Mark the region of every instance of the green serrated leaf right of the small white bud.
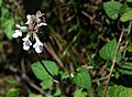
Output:
<instances>
[{"instance_id":1,"label":"green serrated leaf right of the small white bud","mask_svg":"<svg viewBox=\"0 0 132 97\"><path fill-rule=\"evenodd\" d=\"M75 84L82 88L91 87L91 79L88 71L84 67L79 68L79 72L74 77Z\"/></svg>"}]
</instances>

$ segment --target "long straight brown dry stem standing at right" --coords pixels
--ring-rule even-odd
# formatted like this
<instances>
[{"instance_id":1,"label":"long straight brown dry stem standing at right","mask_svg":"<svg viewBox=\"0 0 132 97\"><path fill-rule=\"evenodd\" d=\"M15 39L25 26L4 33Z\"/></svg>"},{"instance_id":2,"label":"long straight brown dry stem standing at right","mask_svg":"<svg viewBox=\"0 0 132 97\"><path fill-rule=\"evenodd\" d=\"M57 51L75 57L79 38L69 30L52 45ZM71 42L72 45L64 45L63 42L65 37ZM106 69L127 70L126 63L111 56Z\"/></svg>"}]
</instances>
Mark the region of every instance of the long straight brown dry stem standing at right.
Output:
<instances>
[{"instance_id":1,"label":"long straight brown dry stem standing at right","mask_svg":"<svg viewBox=\"0 0 132 97\"><path fill-rule=\"evenodd\" d=\"M120 35L120 39L119 39L119 42L118 42L118 45L117 45L117 48L116 48L114 58L112 61L112 65L111 65L111 68L110 68L110 73L108 75L108 80L106 83L106 88L105 88L102 97L106 97L108 86L109 86L109 82L111 79L111 75L112 75L112 72L113 72L113 68L114 68L114 65L116 65L116 61L117 61L117 57L118 57L118 52L119 52L119 48L120 48L120 44L121 44L123 34L124 34L124 30L122 30L122 32L121 32L121 35Z\"/></svg>"}]
</instances>

